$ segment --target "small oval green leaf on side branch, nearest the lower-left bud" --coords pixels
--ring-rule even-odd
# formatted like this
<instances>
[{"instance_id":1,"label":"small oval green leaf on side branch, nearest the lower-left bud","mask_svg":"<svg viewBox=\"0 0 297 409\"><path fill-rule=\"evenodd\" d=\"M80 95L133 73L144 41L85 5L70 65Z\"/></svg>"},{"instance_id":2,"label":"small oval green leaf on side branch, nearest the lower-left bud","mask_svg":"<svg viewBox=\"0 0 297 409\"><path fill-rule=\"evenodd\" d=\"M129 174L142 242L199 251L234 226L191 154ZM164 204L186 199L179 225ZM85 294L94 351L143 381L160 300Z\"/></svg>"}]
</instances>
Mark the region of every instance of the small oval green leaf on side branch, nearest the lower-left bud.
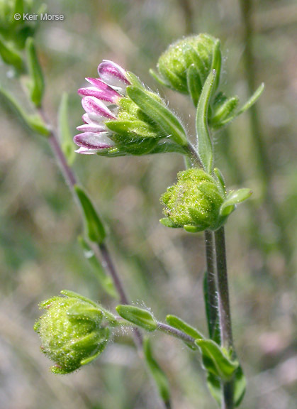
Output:
<instances>
[{"instance_id":1,"label":"small oval green leaf on side branch, nearest the lower-left bud","mask_svg":"<svg viewBox=\"0 0 297 409\"><path fill-rule=\"evenodd\" d=\"M138 327L147 331L155 331L157 329L157 321L150 311L135 307L135 305L118 305L116 310L122 318L138 325Z\"/></svg>"}]
</instances>

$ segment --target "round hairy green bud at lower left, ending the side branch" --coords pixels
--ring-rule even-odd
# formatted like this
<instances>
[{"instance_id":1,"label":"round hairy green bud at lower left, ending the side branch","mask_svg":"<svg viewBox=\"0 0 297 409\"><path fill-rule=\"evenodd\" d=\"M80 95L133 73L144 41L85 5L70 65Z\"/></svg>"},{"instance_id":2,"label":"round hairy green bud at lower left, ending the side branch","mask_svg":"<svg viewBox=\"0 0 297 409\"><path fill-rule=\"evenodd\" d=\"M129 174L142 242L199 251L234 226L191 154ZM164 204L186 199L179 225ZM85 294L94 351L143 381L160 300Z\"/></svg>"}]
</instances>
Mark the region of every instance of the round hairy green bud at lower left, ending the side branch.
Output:
<instances>
[{"instance_id":1,"label":"round hairy green bud at lower left, ending the side branch","mask_svg":"<svg viewBox=\"0 0 297 409\"><path fill-rule=\"evenodd\" d=\"M52 373L70 373L89 364L105 349L110 334L99 305L76 293L69 294L41 302L40 310L46 312L34 326L41 350L55 362Z\"/></svg>"}]
</instances>

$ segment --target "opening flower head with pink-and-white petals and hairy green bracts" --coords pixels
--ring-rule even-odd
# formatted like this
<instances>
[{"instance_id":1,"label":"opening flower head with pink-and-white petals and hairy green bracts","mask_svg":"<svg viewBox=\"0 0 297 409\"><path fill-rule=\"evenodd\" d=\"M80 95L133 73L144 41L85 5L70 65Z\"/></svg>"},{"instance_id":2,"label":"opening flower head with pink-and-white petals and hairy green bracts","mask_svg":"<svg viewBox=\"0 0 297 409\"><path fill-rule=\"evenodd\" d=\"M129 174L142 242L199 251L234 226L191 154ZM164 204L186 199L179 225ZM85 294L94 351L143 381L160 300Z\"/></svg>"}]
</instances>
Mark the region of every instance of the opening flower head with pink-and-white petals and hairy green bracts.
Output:
<instances>
[{"instance_id":1,"label":"opening flower head with pink-and-white petals and hairy green bracts","mask_svg":"<svg viewBox=\"0 0 297 409\"><path fill-rule=\"evenodd\" d=\"M103 60L98 72L99 78L86 78L90 87L78 90L86 113L84 125L77 128L82 133L74 136L77 153L182 151L187 144L184 128L157 94L115 62Z\"/></svg>"}]
</instances>

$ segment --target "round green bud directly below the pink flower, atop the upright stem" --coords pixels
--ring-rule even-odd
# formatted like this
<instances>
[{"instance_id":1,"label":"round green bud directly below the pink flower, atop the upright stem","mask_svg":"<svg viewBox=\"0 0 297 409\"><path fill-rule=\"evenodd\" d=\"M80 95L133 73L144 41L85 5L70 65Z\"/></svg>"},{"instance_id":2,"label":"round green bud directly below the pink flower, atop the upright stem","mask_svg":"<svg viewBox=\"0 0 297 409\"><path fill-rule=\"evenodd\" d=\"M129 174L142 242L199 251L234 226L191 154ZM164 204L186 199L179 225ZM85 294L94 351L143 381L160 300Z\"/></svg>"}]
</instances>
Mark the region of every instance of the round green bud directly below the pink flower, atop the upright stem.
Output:
<instances>
[{"instance_id":1,"label":"round green bud directly below the pink flower, atop the upright stem","mask_svg":"<svg viewBox=\"0 0 297 409\"><path fill-rule=\"evenodd\" d=\"M161 197L164 214L160 222L186 231L216 230L226 217L220 215L224 197L215 180L201 169L179 172L178 181Z\"/></svg>"}]
</instances>

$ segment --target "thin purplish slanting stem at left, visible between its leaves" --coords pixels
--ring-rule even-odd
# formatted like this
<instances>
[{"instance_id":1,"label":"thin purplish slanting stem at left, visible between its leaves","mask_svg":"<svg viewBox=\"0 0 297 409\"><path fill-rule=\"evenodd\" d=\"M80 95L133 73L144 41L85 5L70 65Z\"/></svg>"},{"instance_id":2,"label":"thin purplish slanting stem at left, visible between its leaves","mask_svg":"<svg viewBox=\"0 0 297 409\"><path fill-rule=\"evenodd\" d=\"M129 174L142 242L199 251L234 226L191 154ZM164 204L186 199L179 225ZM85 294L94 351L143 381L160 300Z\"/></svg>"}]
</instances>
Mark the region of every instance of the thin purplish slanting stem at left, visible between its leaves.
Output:
<instances>
[{"instance_id":1,"label":"thin purplish slanting stem at left, visible between its leaves","mask_svg":"<svg viewBox=\"0 0 297 409\"><path fill-rule=\"evenodd\" d=\"M39 109L39 113L40 115L43 117L43 120L45 121L46 124L48 124L48 121L46 119L46 115L45 112L43 111L43 109ZM65 158L65 155L60 147L60 143L58 141L57 138L57 133L55 132L54 129L52 129L50 136L48 138L48 141L50 143L50 146L52 148L52 153L54 154L57 163L60 167L60 170L62 172L62 175L65 178L65 181L67 182L67 185L69 187L69 190L71 190L72 195L74 196L74 198L76 199L76 202L79 203L79 200L77 198L77 193L74 190L74 185L77 185L77 176L75 175L74 171L72 170L72 168L69 167L67 160ZM128 296L125 293L125 289L123 287L123 283L121 281L121 277L119 276L118 272L116 271L116 267L113 264L112 258L111 258L111 254L108 251L108 248L106 246L106 244L98 244L96 246L96 249L94 249L94 254L96 255L96 257L99 260L99 263L102 264L103 268L106 269L107 273L111 276L111 278L113 279L113 283L115 285L115 288L118 292L118 295L120 297L120 301L122 304L129 304L129 300L128 300ZM101 255L101 259L98 255L98 251ZM135 328L135 331L133 332L133 339L134 339L134 343L135 343L135 347L138 350L138 355L143 359L143 351L142 351L142 344L143 344L143 340L142 340L142 334L140 332L140 330L138 328ZM152 377L153 378L153 377ZM168 402L164 402L164 400L162 400L162 398L160 397L160 403L162 404L162 408L166 408L166 409L170 409L170 403Z\"/></svg>"}]
</instances>

